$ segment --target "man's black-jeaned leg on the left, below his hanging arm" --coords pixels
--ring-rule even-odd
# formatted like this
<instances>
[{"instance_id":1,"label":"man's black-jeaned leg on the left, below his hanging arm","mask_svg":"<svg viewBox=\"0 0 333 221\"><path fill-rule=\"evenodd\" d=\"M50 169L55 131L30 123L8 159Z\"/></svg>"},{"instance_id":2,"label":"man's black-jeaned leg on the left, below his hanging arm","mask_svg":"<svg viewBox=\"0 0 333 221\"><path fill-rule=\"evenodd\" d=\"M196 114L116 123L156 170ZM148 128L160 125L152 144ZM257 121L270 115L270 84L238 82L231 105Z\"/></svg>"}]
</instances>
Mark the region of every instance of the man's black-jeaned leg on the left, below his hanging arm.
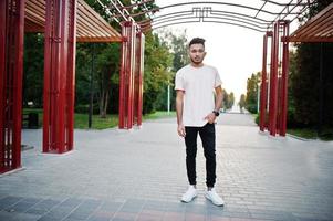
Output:
<instances>
[{"instance_id":1,"label":"man's black-jeaned leg on the left, below his hanging arm","mask_svg":"<svg viewBox=\"0 0 333 221\"><path fill-rule=\"evenodd\" d=\"M197 185L196 178L196 156L197 156L197 127L185 127L185 145L186 145L186 169L190 185Z\"/></svg>"}]
</instances>

